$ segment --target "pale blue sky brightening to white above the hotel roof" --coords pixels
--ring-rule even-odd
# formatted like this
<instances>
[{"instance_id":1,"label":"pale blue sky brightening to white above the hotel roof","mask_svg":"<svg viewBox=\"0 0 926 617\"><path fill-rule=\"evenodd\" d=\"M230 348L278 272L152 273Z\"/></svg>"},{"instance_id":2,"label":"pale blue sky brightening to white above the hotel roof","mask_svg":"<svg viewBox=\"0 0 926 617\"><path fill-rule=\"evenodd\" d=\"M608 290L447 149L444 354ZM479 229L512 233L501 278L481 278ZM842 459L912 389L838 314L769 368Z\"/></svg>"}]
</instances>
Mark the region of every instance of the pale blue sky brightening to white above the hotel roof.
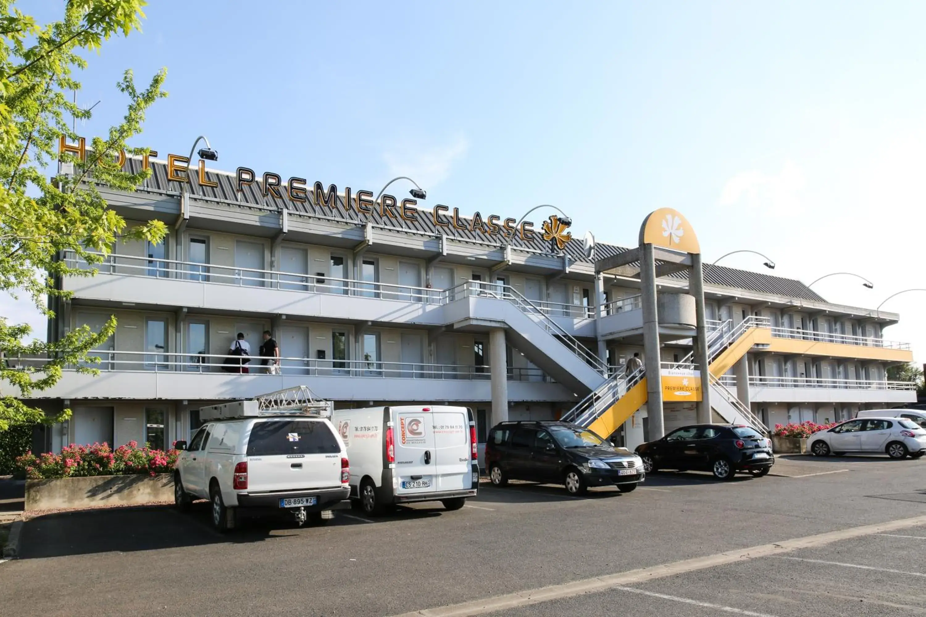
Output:
<instances>
[{"instance_id":1,"label":"pale blue sky brightening to white above the hotel roof","mask_svg":"<svg viewBox=\"0 0 926 617\"><path fill-rule=\"evenodd\" d=\"M40 19L58 6L23 3ZM169 98L137 141L162 155L203 133L220 168L370 190L408 175L430 205L519 217L556 204L579 235L623 244L670 206L707 260L754 249L781 276L875 284L821 281L832 302L873 308L926 287L926 3L163 1L146 13L144 33L88 57L79 99L102 102L81 134L121 117L125 68L142 82L167 67ZM903 319L885 338L912 341L920 361L924 302L884 305Z\"/></svg>"}]
</instances>

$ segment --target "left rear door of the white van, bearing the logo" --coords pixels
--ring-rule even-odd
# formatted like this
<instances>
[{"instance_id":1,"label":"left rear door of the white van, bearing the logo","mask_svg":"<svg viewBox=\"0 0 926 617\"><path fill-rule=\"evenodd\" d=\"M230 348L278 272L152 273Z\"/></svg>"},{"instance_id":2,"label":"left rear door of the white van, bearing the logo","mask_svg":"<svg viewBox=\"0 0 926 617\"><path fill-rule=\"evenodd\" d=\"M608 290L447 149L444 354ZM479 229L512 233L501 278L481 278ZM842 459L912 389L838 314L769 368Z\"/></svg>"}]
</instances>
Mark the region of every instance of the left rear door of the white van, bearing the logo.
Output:
<instances>
[{"instance_id":1,"label":"left rear door of the white van, bearing the logo","mask_svg":"<svg viewBox=\"0 0 926 617\"><path fill-rule=\"evenodd\" d=\"M432 493L436 488L434 418L430 407L394 407L395 474L398 495Z\"/></svg>"}]
</instances>

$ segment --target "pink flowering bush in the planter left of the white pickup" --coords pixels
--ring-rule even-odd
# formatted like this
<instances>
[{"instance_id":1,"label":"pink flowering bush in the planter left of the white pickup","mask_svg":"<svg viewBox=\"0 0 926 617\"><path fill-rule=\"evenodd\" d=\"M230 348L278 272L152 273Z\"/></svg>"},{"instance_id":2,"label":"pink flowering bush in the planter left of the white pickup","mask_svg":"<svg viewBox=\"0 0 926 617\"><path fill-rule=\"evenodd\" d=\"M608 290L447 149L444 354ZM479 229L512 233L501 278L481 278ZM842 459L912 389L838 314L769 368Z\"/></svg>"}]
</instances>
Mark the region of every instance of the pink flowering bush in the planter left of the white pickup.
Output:
<instances>
[{"instance_id":1,"label":"pink flowering bush in the planter left of the white pickup","mask_svg":"<svg viewBox=\"0 0 926 617\"><path fill-rule=\"evenodd\" d=\"M91 475L164 474L177 464L180 450L153 450L147 444L138 447L130 441L116 450L109 444L92 446L71 444L60 454L45 452L36 456L26 452L16 459L17 470L31 480Z\"/></svg>"}]
</instances>

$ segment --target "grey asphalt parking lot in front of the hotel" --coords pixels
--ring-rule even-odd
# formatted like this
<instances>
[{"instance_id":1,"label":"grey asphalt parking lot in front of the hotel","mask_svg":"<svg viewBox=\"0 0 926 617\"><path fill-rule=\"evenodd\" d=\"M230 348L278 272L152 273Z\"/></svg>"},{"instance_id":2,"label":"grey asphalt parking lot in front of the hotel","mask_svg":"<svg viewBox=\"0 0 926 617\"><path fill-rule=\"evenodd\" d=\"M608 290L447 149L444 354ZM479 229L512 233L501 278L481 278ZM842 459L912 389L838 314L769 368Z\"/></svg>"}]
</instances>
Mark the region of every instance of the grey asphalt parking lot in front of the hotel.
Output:
<instances>
[{"instance_id":1,"label":"grey asphalt parking lot in front of the hotel","mask_svg":"<svg viewBox=\"0 0 926 617\"><path fill-rule=\"evenodd\" d=\"M586 498L483 484L457 512L248 520L224 537L206 503L51 514L0 563L0 612L926 614L926 461L787 457L772 474L651 475Z\"/></svg>"}]
</instances>

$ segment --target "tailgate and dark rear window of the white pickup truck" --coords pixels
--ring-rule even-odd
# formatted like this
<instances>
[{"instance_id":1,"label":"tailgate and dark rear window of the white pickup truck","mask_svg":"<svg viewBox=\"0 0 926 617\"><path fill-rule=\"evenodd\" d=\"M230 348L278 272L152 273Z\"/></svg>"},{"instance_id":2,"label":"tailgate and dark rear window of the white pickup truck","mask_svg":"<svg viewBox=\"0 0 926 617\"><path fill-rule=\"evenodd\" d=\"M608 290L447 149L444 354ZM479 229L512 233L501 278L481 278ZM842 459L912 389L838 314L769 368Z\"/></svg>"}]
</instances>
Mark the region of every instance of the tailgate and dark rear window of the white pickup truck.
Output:
<instances>
[{"instance_id":1,"label":"tailgate and dark rear window of the white pickup truck","mask_svg":"<svg viewBox=\"0 0 926 617\"><path fill-rule=\"evenodd\" d=\"M341 446L322 420L258 420L246 454L249 493L341 486Z\"/></svg>"}]
</instances>

